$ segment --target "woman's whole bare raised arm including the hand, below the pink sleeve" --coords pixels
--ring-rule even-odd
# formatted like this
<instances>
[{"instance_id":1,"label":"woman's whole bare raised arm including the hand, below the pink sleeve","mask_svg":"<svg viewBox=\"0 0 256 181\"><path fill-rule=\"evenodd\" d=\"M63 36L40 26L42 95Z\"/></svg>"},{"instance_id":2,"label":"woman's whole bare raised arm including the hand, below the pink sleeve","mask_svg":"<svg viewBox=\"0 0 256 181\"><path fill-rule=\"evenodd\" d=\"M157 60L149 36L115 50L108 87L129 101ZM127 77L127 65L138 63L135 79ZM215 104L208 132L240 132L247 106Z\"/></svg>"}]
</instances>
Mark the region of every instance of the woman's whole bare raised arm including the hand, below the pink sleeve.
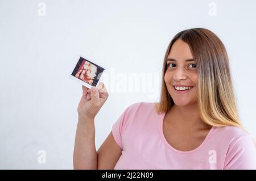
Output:
<instances>
[{"instance_id":1,"label":"woman's whole bare raised arm including the hand, below the pink sleeve","mask_svg":"<svg viewBox=\"0 0 256 181\"><path fill-rule=\"evenodd\" d=\"M114 169L122 149L115 142L112 133L106 138L98 152L95 148L94 118L108 99L108 92L103 83L96 91L82 86L82 98L77 111L75 148L73 153L74 169Z\"/></svg>"}]
</instances>

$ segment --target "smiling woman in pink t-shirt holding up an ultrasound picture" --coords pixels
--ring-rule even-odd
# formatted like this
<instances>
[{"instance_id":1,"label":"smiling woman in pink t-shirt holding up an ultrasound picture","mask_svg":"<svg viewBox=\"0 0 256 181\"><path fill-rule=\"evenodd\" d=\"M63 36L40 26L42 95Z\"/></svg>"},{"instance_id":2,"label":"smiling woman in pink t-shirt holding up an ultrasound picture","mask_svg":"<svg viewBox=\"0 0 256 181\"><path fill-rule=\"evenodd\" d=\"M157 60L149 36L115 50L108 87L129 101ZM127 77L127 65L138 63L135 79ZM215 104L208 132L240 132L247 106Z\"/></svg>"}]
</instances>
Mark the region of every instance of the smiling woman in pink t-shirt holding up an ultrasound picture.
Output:
<instances>
[{"instance_id":1,"label":"smiling woman in pink t-shirt holding up an ultrasound picture","mask_svg":"<svg viewBox=\"0 0 256 181\"><path fill-rule=\"evenodd\" d=\"M103 83L92 90L82 87L75 169L256 169L253 139L238 117L226 49L213 32L177 33L162 77L160 102L129 106L98 151L94 117L108 92Z\"/></svg>"}]
</instances>

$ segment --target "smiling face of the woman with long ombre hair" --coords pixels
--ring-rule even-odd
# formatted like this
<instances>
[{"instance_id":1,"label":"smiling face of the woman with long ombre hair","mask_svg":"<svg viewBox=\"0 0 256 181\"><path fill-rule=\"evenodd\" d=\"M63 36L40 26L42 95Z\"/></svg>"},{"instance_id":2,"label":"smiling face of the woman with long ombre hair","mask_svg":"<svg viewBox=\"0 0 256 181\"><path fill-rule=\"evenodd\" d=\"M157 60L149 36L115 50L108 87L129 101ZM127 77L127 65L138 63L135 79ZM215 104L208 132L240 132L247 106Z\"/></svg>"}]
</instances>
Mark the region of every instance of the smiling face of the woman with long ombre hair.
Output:
<instances>
[{"instance_id":1,"label":"smiling face of the woman with long ombre hair","mask_svg":"<svg viewBox=\"0 0 256 181\"><path fill-rule=\"evenodd\" d=\"M193 60L188 44L180 39L175 41L168 55L164 81L177 106L186 106L197 102L196 62ZM179 90L176 90L174 86L178 86ZM184 91L184 87L186 89L192 87L192 89Z\"/></svg>"}]
</instances>

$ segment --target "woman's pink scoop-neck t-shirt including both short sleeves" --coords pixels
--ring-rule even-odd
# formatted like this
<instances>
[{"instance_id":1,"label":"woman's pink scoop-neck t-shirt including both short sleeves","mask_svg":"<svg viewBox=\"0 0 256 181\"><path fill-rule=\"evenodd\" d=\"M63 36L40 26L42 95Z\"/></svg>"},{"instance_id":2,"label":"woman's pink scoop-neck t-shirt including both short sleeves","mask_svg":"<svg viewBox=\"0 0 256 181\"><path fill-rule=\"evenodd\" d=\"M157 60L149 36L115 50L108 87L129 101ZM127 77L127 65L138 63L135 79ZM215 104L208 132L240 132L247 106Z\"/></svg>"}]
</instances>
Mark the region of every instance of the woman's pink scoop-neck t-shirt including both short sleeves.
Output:
<instances>
[{"instance_id":1,"label":"woman's pink scoop-neck t-shirt including both short sleeves","mask_svg":"<svg viewBox=\"0 0 256 181\"><path fill-rule=\"evenodd\" d=\"M114 169L256 169L253 139L242 128L212 127L202 144L180 151L163 135L155 103L131 104L113 124L122 154Z\"/></svg>"}]
</instances>

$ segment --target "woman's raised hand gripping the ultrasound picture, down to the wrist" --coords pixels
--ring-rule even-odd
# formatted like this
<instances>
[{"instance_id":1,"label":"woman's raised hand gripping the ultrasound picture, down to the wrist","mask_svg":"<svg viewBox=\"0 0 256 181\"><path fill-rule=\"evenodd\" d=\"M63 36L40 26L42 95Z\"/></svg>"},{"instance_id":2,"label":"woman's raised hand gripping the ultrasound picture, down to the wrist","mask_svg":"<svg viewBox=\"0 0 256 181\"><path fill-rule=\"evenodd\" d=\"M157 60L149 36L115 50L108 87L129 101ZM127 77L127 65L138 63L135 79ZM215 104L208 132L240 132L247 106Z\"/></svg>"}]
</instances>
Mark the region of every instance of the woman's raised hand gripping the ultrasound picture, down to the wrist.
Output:
<instances>
[{"instance_id":1,"label":"woman's raised hand gripping the ultrasound picture, down to the wrist","mask_svg":"<svg viewBox=\"0 0 256 181\"><path fill-rule=\"evenodd\" d=\"M94 119L108 96L109 93L102 82L97 87L92 87L92 89L82 86L82 97L77 107L79 117L82 119Z\"/></svg>"}]
</instances>

